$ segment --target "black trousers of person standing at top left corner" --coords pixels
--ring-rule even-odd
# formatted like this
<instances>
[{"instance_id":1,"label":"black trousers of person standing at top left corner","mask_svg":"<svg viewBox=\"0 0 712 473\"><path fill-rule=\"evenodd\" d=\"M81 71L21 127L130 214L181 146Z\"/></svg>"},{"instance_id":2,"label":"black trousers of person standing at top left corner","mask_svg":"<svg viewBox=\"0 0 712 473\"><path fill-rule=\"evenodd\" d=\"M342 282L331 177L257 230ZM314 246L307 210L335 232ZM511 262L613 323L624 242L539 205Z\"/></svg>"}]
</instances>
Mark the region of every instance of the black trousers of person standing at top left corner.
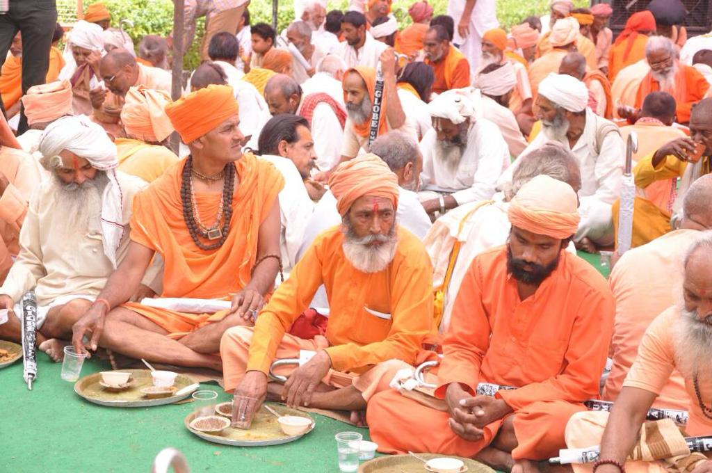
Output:
<instances>
[{"instance_id":1,"label":"black trousers of person standing at top left corner","mask_svg":"<svg viewBox=\"0 0 712 473\"><path fill-rule=\"evenodd\" d=\"M0 15L0 68L5 63L12 38L18 31L22 33L22 95L33 85L45 83L56 25L55 0L10 0L10 11ZM4 114L2 97L0 109ZM22 108L18 134L27 128L27 117Z\"/></svg>"}]
</instances>

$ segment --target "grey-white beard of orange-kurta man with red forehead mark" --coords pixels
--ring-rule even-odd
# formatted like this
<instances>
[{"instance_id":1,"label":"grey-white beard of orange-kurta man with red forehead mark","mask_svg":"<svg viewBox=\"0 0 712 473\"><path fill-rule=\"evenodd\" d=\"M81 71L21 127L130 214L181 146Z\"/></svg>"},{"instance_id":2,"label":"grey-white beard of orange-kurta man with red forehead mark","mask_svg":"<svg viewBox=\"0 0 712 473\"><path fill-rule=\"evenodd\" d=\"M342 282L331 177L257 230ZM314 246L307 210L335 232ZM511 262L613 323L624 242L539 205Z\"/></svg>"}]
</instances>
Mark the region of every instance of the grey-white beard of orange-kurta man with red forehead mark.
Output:
<instances>
[{"instance_id":1,"label":"grey-white beard of orange-kurta man with red forehead mark","mask_svg":"<svg viewBox=\"0 0 712 473\"><path fill-rule=\"evenodd\" d=\"M341 246L346 259L355 269L362 273L378 273L391 264L398 246L395 224L387 235L368 235L362 238L357 237L347 217L343 224L346 235ZM381 244L368 246L375 241Z\"/></svg>"}]
</instances>

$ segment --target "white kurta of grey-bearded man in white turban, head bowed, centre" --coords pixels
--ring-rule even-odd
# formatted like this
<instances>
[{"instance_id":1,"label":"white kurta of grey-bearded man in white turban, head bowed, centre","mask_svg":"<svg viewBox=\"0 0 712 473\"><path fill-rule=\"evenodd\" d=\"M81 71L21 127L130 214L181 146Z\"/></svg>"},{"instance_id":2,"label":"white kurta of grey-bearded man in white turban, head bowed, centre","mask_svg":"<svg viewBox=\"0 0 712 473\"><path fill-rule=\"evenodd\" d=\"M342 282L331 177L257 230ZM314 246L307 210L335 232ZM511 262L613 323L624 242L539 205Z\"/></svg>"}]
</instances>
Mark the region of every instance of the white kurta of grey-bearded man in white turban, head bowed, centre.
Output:
<instances>
[{"instance_id":1,"label":"white kurta of grey-bearded man in white turban, head bowed, centre","mask_svg":"<svg viewBox=\"0 0 712 473\"><path fill-rule=\"evenodd\" d=\"M467 145L456 169L435 154L437 132L430 130L420 142L423 153L423 190L450 192L458 205L491 199L497 180L509 165L507 143L497 125L484 118L470 125Z\"/></svg>"}]
</instances>

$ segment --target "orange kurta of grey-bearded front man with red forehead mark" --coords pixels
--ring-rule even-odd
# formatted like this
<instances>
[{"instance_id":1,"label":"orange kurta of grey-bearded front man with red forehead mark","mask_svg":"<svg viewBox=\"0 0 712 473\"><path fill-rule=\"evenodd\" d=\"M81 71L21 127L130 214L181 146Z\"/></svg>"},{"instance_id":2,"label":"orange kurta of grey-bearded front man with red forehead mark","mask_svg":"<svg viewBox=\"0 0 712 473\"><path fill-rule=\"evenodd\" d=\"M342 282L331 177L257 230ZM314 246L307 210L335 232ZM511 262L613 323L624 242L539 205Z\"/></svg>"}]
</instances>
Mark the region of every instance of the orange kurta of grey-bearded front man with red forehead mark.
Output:
<instances>
[{"instance_id":1,"label":"orange kurta of grey-bearded front man with red forehead mark","mask_svg":"<svg viewBox=\"0 0 712 473\"><path fill-rule=\"evenodd\" d=\"M399 228L398 246L384 271L355 269L342 249L344 234L334 227L314 241L257 318L248 360L231 347L231 331L221 343L226 389L246 370L268 373L283 336L309 306L321 285L330 316L325 334L332 368L361 373L396 358L414 364L422 341L435 333L432 266L422 242Z\"/></svg>"}]
</instances>

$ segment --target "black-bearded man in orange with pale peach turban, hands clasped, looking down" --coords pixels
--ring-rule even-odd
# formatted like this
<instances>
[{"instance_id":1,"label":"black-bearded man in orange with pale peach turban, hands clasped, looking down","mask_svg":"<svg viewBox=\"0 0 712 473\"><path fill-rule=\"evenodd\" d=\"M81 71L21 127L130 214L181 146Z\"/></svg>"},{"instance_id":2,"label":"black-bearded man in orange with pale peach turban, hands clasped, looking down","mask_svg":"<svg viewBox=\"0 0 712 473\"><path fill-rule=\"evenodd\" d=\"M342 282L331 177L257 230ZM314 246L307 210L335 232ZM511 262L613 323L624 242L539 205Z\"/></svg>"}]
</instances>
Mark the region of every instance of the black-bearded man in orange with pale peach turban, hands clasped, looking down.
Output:
<instances>
[{"instance_id":1,"label":"black-bearded man in orange with pale peach turban, hands clasped, looking down","mask_svg":"<svg viewBox=\"0 0 712 473\"><path fill-rule=\"evenodd\" d=\"M370 401L379 451L475 457L527 472L564 446L567 420L598 395L614 311L605 279L565 251L577 204L569 184L547 175L519 189L508 243L478 254L464 275L432 407L396 390ZM517 389L491 397L478 383Z\"/></svg>"}]
</instances>

